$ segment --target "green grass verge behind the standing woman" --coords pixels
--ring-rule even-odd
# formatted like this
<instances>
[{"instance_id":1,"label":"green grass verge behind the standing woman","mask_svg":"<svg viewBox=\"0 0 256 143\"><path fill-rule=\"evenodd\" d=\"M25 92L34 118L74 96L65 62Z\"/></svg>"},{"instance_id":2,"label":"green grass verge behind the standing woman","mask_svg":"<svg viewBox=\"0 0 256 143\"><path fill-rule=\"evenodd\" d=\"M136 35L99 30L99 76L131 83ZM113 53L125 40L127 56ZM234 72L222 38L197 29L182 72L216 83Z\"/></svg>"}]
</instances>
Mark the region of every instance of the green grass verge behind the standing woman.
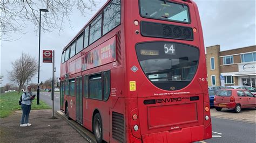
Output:
<instances>
[{"instance_id":1,"label":"green grass verge behind the standing woman","mask_svg":"<svg viewBox=\"0 0 256 143\"><path fill-rule=\"evenodd\" d=\"M7 92L0 94L0 118L7 117L12 111L21 110L21 105L18 104L22 92ZM51 109L49 105L40 100L40 104L36 104L36 98L33 100L31 110Z\"/></svg>"}]
</instances>

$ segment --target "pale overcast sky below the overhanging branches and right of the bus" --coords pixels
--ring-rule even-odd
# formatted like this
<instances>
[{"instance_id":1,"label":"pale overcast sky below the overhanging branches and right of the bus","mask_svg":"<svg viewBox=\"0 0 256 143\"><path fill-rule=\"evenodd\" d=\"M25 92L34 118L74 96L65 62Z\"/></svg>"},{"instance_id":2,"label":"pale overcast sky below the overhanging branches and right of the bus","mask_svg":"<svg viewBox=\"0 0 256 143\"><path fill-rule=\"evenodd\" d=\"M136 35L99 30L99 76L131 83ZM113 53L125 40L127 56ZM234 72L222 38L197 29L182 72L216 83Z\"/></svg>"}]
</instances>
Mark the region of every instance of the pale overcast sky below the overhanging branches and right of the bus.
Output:
<instances>
[{"instance_id":1,"label":"pale overcast sky below the overhanging branches and right of the bus","mask_svg":"<svg viewBox=\"0 0 256 143\"><path fill-rule=\"evenodd\" d=\"M255 45L256 4L254 0L194 1L199 8L205 47L220 45L220 50L225 51ZM103 0L95 9L99 9L105 2L106 0ZM41 31L40 82L52 77L51 63L42 63L42 50L55 51L55 75L59 77L62 50L96 11L90 13L90 15L84 17L74 10L73 15L70 17L73 28L71 29L69 23L66 22L64 30L60 34L58 30L50 33ZM28 26L24 31L27 33L11 34L12 39L18 39L16 41L0 41L0 75L4 76L2 86L6 83L11 83L8 79L8 71L12 70L11 62L19 58L22 52L29 53L38 59L38 32L34 32L35 27L33 25ZM32 78L33 83L37 83L37 76L36 74Z\"/></svg>"}]
</instances>

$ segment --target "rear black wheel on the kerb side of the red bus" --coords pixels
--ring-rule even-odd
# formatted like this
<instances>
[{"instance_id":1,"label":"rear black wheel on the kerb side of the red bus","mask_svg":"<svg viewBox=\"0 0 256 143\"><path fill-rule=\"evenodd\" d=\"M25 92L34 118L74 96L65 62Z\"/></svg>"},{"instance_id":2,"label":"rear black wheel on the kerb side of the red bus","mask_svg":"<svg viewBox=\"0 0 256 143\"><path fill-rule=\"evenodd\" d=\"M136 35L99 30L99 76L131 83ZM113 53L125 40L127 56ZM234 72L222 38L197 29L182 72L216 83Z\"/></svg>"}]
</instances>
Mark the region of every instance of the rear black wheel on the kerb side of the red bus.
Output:
<instances>
[{"instance_id":1,"label":"rear black wheel on the kerb side of the red bus","mask_svg":"<svg viewBox=\"0 0 256 143\"><path fill-rule=\"evenodd\" d=\"M102 118L99 113L93 118L93 133L97 142L102 142Z\"/></svg>"}]
</instances>

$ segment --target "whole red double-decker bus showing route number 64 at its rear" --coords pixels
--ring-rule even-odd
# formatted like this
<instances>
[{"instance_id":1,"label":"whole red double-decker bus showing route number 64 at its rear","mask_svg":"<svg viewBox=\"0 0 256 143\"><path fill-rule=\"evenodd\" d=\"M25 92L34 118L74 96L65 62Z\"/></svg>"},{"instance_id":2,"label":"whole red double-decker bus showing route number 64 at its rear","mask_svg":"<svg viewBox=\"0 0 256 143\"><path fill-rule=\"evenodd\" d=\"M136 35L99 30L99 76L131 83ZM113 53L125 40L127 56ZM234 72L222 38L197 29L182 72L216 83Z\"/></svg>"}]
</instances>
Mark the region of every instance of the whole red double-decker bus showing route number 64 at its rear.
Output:
<instances>
[{"instance_id":1,"label":"whole red double-decker bus showing route number 64 at its rear","mask_svg":"<svg viewBox=\"0 0 256 143\"><path fill-rule=\"evenodd\" d=\"M97 142L212 137L193 1L107 1L64 48L60 76L60 109Z\"/></svg>"}]
</instances>

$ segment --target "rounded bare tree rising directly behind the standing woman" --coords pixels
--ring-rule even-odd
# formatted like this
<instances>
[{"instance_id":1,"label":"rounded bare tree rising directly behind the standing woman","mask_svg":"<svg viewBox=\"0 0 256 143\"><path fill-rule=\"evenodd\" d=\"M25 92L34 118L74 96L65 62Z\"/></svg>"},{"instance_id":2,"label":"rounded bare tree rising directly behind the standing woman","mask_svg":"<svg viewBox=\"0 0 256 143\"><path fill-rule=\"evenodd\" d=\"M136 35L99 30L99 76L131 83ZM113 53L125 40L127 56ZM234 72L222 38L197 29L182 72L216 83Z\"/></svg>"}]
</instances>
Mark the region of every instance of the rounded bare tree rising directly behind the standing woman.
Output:
<instances>
[{"instance_id":1,"label":"rounded bare tree rising directly behind the standing woman","mask_svg":"<svg viewBox=\"0 0 256 143\"><path fill-rule=\"evenodd\" d=\"M18 84L20 92L26 80L31 79L38 71L37 60L29 54L22 53L22 56L11 62L12 71L9 71L9 79Z\"/></svg>"}]
</instances>

